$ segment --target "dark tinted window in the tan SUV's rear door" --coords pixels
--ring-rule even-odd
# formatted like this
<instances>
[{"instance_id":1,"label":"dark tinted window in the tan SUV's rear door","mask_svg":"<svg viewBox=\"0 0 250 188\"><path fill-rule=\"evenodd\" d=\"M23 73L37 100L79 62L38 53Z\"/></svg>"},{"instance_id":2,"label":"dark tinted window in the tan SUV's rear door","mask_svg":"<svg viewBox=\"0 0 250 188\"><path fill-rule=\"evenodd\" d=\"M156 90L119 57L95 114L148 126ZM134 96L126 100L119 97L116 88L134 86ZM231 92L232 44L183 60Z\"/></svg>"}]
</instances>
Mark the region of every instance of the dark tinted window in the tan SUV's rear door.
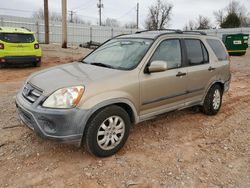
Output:
<instances>
[{"instance_id":1,"label":"dark tinted window in the tan SUV's rear door","mask_svg":"<svg viewBox=\"0 0 250 188\"><path fill-rule=\"evenodd\" d=\"M207 49L198 39L185 39L189 65L201 65L209 62Z\"/></svg>"}]
</instances>

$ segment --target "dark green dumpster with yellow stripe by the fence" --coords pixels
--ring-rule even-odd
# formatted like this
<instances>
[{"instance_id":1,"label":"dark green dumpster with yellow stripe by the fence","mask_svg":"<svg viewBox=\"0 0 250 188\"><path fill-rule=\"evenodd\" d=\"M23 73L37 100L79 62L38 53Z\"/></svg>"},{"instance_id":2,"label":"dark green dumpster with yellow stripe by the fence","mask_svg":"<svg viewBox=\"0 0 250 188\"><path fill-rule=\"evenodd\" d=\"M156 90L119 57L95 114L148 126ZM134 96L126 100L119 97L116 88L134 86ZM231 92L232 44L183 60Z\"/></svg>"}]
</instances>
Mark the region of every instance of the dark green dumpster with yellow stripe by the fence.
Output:
<instances>
[{"instance_id":1,"label":"dark green dumpster with yellow stripe by the fence","mask_svg":"<svg viewBox=\"0 0 250 188\"><path fill-rule=\"evenodd\" d=\"M224 34L222 40L229 55L245 55L248 48L248 34Z\"/></svg>"}]
</instances>

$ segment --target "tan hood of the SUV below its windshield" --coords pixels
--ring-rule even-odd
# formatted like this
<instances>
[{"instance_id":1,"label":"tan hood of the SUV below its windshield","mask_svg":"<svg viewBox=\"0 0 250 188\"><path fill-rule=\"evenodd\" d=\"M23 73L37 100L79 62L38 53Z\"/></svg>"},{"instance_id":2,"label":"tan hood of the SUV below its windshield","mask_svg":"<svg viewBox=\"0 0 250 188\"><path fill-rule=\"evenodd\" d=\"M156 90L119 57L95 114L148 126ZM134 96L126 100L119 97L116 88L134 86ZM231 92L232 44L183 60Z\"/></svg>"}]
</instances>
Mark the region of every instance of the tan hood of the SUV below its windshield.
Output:
<instances>
[{"instance_id":1,"label":"tan hood of the SUV below its windshield","mask_svg":"<svg viewBox=\"0 0 250 188\"><path fill-rule=\"evenodd\" d=\"M69 86L87 86L120 75L124 71L88 65L80 62L56 66L32 75L28 82L42 89L44 95Z\"/></svg>"}]
</instances>

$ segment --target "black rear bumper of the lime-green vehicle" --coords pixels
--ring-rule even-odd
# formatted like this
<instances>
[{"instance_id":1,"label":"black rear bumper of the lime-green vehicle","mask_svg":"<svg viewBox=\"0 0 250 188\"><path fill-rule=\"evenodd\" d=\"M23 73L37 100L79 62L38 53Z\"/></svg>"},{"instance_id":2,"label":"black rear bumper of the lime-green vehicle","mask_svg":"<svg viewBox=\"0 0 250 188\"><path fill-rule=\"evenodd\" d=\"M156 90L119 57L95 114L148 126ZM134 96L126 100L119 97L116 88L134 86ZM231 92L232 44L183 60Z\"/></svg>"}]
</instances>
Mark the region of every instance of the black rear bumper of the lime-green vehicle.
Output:
<instances>
[{"instance_id":1,"label":"black rear bumper of the lime-green vehicle","mask_svg":"<svg viewBox=\"0 0 250 188\"><path fill-rule=\"evenodd\" d=\"M24 64L37 63L41 61L40 56L5 56L0 57L0 63Z\"/></svg>"}]
</instances>

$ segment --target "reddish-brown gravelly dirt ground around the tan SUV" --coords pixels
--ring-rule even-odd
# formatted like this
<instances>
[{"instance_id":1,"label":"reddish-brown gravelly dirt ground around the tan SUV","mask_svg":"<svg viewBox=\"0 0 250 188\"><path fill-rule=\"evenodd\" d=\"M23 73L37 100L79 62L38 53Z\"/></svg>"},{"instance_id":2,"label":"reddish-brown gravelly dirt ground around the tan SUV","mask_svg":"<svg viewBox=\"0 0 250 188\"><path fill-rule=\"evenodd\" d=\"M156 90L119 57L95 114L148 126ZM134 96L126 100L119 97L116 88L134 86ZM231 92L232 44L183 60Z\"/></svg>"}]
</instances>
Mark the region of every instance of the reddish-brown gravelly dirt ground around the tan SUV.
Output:
<instances>
[{"instance_id":1,"label":"reddish-brown gravelly dirt ground around the tan SUV","mask_svg":"<svg viewBox=\"0 0 250 188\"><path fill-rule=\"evenodd\" d=\"M101 159L20 124L14 100L27 76L89 52L42 48L41 68L0 70L0 187L250 187L250 51L231 58L232 84L217 116L165 114L135 126L118 154Z\"/></svg>"}]
</instances>

